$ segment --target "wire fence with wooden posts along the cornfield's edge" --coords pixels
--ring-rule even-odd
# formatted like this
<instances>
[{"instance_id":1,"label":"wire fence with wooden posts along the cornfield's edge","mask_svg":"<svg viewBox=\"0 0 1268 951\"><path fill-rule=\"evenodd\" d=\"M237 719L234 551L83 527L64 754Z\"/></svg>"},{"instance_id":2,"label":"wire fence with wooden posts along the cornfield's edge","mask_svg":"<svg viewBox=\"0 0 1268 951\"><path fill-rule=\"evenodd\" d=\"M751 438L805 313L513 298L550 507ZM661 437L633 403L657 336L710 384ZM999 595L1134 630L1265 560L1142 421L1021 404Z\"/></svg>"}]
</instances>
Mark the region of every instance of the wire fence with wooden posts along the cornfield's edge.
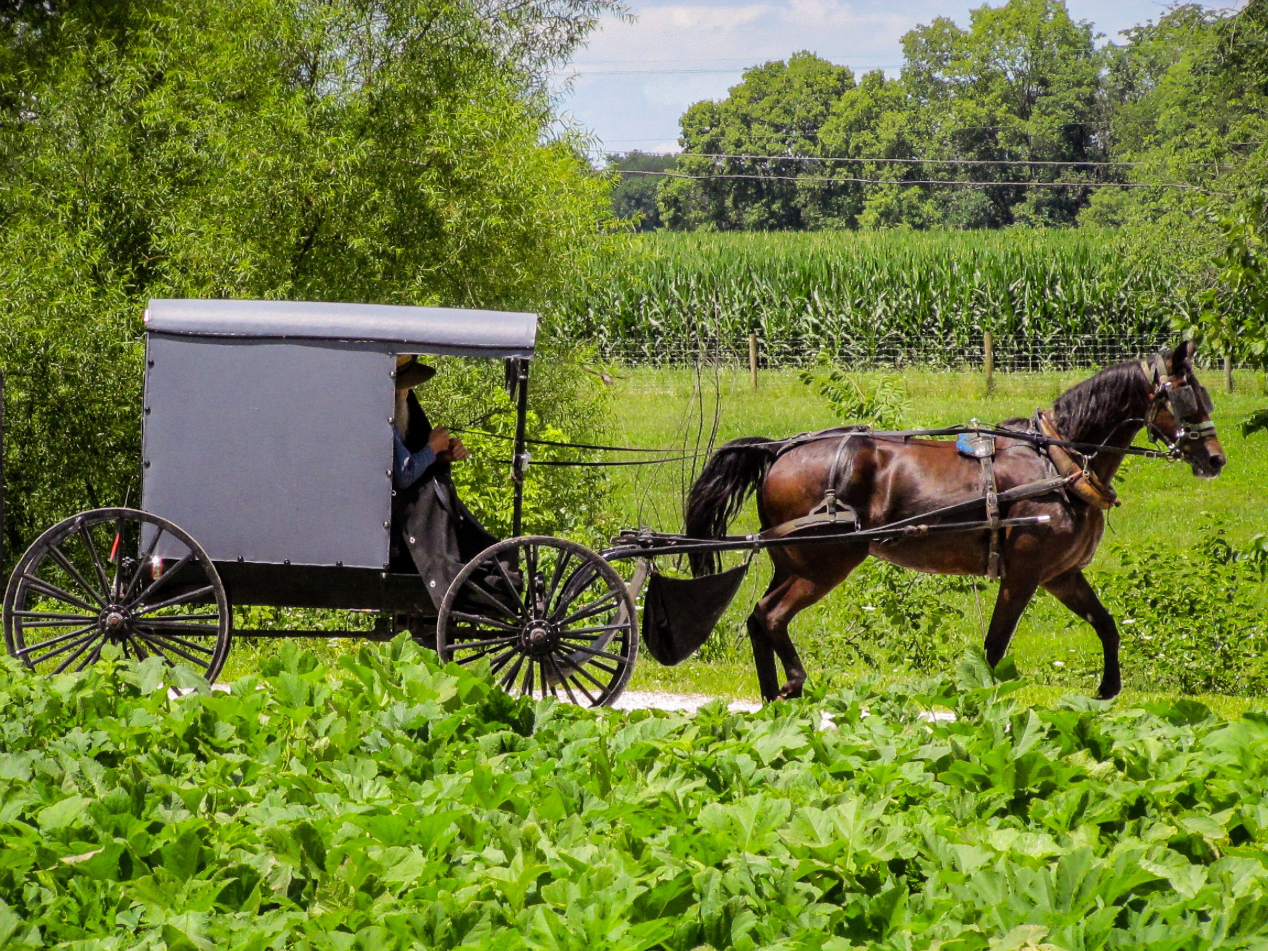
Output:
<instances>
[{"instance_id":1,"label":"wire fence with wooden posts along the cornfield's edge","mask_svg":"<svg viewBox=\"0 0 1268 951\"><path fill-rule=\"evenodd\" d=\"M1175 346L1174 335L1129 336L1084 335L1058 339L994 337L992 341L994 369L1000 373L1040 373L1107 366L1123 360L1136 360ZM847 370L893 370L922 368L931 370L983 369L987 363L981 339L907 339L850 340L837 342L757 341L757 368L781 369L806 366L819 353L827 351ZM600 358L619 366L749 366L749 342L739 341L609 341L600 346ZM1213 366L1215 359L1200 365ZM1222 364L1221 364L1222 365ZM1236 366L1243 364L1236 363ZM1249 364L1248 364L1249 365Z\"/></svg>"}]
</instances>

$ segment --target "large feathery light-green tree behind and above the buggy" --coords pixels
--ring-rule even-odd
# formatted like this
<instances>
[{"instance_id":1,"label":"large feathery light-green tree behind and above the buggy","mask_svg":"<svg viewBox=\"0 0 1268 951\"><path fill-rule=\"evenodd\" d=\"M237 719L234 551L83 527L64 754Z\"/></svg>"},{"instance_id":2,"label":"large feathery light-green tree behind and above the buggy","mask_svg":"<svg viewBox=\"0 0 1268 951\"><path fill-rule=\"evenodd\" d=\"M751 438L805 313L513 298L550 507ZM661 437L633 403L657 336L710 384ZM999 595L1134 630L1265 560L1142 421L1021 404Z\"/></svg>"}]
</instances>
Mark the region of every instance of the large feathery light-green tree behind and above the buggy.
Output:
<instances>
[{"instance_id":1,"label":"large feathery light-green tree behind and above the buggy","mask_svg":"<svg viewBox=\"0 0 1268 951\"><path fill-rule=\"evenodd\" d=\"M9 552L137 498L151 297L549 308L607 199L544 82L615 3L6 8Z\"/></svg>"}]
</instances>

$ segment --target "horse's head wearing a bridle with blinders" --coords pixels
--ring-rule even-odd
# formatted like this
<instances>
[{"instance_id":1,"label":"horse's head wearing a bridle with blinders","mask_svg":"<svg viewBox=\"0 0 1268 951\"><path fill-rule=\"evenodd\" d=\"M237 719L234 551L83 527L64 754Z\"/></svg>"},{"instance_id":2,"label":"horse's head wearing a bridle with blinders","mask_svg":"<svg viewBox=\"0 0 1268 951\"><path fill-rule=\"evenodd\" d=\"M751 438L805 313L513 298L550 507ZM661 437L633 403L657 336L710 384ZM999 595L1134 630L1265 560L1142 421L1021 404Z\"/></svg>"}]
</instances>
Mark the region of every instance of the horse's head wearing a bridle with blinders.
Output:
<instances>
[{"instance_id":1,"label":"horse's head wearing a bridle with blinders","mask_svg":"<svg viewBox=\"0 0 1268 951\"><path fill-rule=\"evenodd\" d=\"M1153 385L1145 429L1154 441L1167 444L1192 468L1193 474L1213 479L1227 462L1215 435L1211 397L1193 373L1192 340L1172 354L1158 354L1145 375Z\"/></svg>"}]
</instances>

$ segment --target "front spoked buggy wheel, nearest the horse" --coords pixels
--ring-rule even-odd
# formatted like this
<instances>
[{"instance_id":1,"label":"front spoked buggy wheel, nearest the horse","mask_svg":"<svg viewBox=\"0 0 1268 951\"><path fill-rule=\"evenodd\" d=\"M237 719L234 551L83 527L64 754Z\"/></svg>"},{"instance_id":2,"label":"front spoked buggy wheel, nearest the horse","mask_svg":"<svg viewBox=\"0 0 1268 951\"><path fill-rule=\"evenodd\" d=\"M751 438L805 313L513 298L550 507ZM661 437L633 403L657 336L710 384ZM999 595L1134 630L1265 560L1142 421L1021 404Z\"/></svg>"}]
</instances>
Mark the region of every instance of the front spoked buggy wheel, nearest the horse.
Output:
<instances>
[{"instance_id":1,"label":"front spoked buggy wheel, nearest the horse","mask_svg":"<svg viewBox=\"0 0 1268 951\"><path fill-rule=\"evenodd\" d=\"M520 696L609 706L638 657L638 612L625 582L583 545L530 536L484 549L454 578L436 621L443 661L487 658Z\"/></svg>"}]
</instances>

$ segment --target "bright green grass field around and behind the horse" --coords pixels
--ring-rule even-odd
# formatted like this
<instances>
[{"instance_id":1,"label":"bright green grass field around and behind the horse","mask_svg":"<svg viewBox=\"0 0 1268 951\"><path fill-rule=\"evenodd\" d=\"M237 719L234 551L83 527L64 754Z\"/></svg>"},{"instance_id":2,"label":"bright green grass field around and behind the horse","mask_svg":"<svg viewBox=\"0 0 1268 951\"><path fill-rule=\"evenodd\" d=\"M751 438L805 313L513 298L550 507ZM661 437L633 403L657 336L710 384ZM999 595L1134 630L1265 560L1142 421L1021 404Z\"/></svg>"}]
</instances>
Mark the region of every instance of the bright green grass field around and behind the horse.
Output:
<instances>
[{"instance_id":1,"label":"bright green grass field around and behind the horse","mask_svg":"<svg viewBox=\"0 0 1268 951\"><path fill-rule=\"evenodd\" d=\"M938 426L966 422L971 417L997 421L1009 416L1028 416L1037 406L1052 399L1087 372L1060 374L1004 374L997 377L992 394L985 393L976 373L907 372L912 412L905 425ZM1213 377L1215 373L1207 374ZM1110 530L1097 560L1089 569L1115 572L1116 548L1132 547L1165 555L1169 550L1198 544L1201 533L1212 522L1224 526L1234 544L1268 530L1268 439L1264 435L1243 439L1236 422L1253 407L1262 406L1262 379L1239 374L1232 394L1222 393L1216 380L1208 380L1216 402L1215 420L1229 455L1225 473L1215 481L1192 477L1188 467L1160 460L1129 460L1120 481L1123 500L1110 519ZM718 441L743 435L790 435L834 425L827 404L799 382L795 372L763 372L753 392L747 373L719 370L700 375L686 369L638 369L618 380L614 401L615 422L611 437L624 445L694 445L704 427L705 436L718 407ZM690 473L681 465L658 469L619 469L615 502L623 522L677 530L682 524L681 500ZM737 529L756 526L752 503L737 522ZM644 659L637 668L634 687L697 691L735 697L756 697L743 619L770 578L770 562L753 563L739 597L732 605L715 639L710 662L691 661L664 668ZM965 647L980 643L983 621L989 619L994 585L978 582L980 592L950 595L955 600L956 621L950 635ZM1131 604L1107 606L1122 619ZM865 604L860 583L853 578L814 607L804 611L792 625L792 637L806 661L812 685L824 680L852 681L872 672L865 664L848 662L842 650L842 631L857 630ZM1123 638L1131 637L1123 626ZM1017 666L1031 682L1027 695L1049 701L1065 692L1090 694L1101 671L1101 645L1092 629L1079 623L1051 596L1038 593L1023 616L1013 640ZM881 666L875 671L883 680L909 676L907 671ZM1125 671L1129 687L1131 671ZM1140 685L1136 685L1140 686ZM1129 700L1144 699L1140 690L1125 691ZM1245 701L1231 697L1203 697L1222 713L1240 710Z\"/></svg>"}]
</instances>

